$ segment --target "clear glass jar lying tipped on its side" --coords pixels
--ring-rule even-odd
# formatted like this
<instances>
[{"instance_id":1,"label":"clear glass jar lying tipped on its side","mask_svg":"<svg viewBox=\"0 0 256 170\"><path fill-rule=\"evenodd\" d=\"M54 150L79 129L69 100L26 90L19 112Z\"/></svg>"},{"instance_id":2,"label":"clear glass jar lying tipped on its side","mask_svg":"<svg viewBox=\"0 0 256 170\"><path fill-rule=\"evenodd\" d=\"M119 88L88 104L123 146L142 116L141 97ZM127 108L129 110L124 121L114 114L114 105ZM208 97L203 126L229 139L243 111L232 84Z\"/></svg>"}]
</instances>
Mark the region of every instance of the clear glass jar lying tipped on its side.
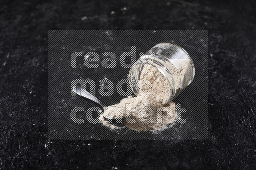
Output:
<instances>
[{"instance_id":1,"label":"clear glass jar lying tipped on its side","mask_svg":"<svg viewBox=\"0 0 256 170\"><path fill-rule=\"evenodd\" d=\"M194 79L195 67L191 57L180 46L170 43L159 43L144 54L147 62L151 61L152 67L157 68L166 78L170 93L164 104L173 100ZM135 67L129 72L129 83L136 96L140 90L139 82L145 60L141 57L136 61ZM168 86L168 85L167 85Z\"/></svg>"}]
</instances>

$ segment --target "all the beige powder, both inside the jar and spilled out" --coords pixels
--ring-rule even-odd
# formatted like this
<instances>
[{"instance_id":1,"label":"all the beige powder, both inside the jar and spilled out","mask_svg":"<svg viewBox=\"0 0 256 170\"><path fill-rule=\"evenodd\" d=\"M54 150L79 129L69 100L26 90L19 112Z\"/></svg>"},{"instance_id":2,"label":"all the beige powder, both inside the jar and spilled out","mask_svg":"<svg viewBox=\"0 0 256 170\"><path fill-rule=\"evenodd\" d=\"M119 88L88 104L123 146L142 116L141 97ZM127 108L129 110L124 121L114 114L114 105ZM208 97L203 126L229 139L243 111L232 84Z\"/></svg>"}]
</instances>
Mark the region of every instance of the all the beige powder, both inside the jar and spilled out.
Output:
<instances>
[{"instance_id":1,"label":"all the beige powder, both inside the jar and spilled out","mask_svg":"<svg viewBox=\"0 0 256 170\"><path fill-rule=\"evenodd\" d=\"M171 87L176 89L176 95L192 81L193 64L190 59L174 58L170 61L172 64L168 62L165 64L172 70L174 84L171 84ZM146 74L140 74L139 95L122 99L119 104L107 107L103 113L104 117L116 119L122 126L111 124L103 115L100 115L103 125L111 129L127 127L135 131L161 131L174 123L175 103L170 101L164 105L170 95L168 81L155 67L146 64L144 68L150 69ZM151 84L148 83L149 81Z\"/></svg>"}]
</instances>

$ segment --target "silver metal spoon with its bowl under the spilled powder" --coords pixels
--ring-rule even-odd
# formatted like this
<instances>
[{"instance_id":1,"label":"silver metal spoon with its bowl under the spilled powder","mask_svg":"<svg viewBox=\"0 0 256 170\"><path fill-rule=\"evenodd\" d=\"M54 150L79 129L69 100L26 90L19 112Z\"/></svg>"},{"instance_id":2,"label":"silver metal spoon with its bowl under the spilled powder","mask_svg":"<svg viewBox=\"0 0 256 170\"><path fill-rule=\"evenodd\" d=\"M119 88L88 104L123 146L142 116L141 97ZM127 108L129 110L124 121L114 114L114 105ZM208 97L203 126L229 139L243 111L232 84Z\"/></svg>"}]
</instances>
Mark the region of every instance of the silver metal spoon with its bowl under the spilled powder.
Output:
<instances>
[{"instance_id":1,"label":"silver metal spoon with its bowl under the spilled powder","mask_svg":"<svg viewBox=\"0 0 256 170\"><path fill-rule=\"evenodd\" d=\"M96 102L96 103L99 103L100 104L100 106L103 108L103 110L104 110L104 112L105 112L105 110L106 110L106 108L107 108L107 106L104 104L104 103L102 103L99 99L97 99L96 97L94 97L94 96L92 96L88 91L86 91L85 89L83 89L83 88L81 88L81 87L78 87L78 86L73 86L73 91L76 93L76 94L78 94L78 95L80 95L80 96L83 96L83 97L85 97L85 98L87 98L87 99L90 99L90 100L92 100L92 101L94 101L94 102ZM102 112L102 110L99 110L99 112ZM103 112L103 113L104 113ZM124 117L121 117L121 118L117 118L117 119L110 119L110 118L107 118L107 117L105 117L104 116L104 114L103 114L103 117L106 119L106 120L116 120L116 122L117 123L120 123L121 122L121 119L122 118L124 118ZM114 122L115 123L115 122Z\"/></svg>"}]
</instances>

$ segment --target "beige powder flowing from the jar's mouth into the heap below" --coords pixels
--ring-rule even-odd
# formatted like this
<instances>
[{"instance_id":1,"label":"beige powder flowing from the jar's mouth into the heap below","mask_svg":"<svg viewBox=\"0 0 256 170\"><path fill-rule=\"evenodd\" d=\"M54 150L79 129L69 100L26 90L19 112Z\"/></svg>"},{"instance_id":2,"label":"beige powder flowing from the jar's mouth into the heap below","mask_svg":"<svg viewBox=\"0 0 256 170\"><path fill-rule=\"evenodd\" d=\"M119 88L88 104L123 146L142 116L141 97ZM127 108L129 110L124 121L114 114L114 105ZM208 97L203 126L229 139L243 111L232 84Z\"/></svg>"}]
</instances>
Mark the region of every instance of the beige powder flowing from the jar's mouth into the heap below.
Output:
<instances>
[{"instance_id":1,"label":"beige powder flowing from the jar's mouth into the heap below","mask_svg":"<svg viewBox=\"0 0 256 170\"><path fill-rule=\"evenodd\" d=\"M167 128L176 117L175 103L169 102L164 108L163 103L169 97L170 88L164 75L155 67L151 67L148 73L141 74L140 80L147 79L152 83L150 89L144 88L143 92L151 91L149 96L124 98L119 104L108 106L103 113L107 118L122 118L122 124L135 131L158 131ZM111 129L118 129L100 115L103 125Z\"/></svg>"}]
</instances>

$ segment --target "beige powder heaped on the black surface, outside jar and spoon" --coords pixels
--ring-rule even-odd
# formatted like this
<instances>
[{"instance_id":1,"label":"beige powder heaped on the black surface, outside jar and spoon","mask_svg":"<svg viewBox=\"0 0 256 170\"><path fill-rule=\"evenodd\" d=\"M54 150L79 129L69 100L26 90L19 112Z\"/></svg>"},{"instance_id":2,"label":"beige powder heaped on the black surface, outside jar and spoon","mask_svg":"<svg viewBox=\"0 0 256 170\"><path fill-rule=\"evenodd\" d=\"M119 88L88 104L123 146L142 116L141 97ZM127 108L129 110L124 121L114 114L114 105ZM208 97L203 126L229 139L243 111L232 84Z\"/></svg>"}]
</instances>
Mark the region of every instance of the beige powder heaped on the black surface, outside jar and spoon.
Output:
<instances>
[{"instance_id":1,"label":"beige powder heaped on the black surface, outside jar and spoon","mask_svg":"<svg viewBox=\"0 0 256 170\"><path fill-rule=\"evenodd\" d=\"M119 107L124 114L126 113L127 117L122 119L122 124L135 131L164 130L168 124L174 122L176 117L174 102L169 102L163 107L162 103L153 101L152 97L149 96L124 98L115 106ZM103 115L100 116L100 120L111 129L119 128L108 123Z\"/></svg>"}]
</instances>

